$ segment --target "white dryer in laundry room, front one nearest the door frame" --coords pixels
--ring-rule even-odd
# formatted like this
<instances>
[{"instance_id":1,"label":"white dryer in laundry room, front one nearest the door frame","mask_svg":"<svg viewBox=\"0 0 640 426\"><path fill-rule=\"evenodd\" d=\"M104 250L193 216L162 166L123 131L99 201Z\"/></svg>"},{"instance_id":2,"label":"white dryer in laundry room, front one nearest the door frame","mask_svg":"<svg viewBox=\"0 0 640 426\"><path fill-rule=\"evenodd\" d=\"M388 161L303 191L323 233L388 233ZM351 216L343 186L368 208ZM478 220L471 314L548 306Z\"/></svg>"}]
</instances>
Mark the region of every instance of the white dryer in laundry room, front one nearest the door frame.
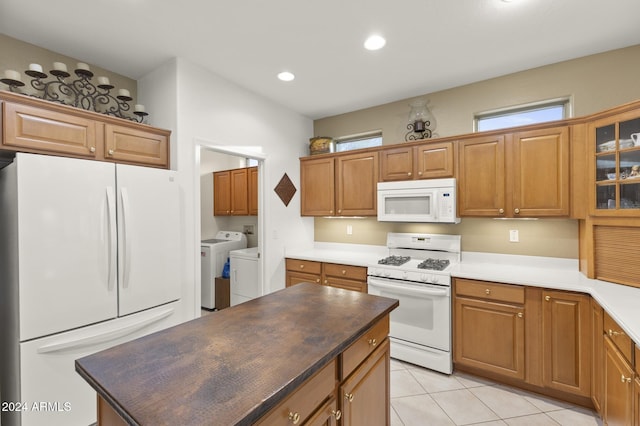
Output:
<instances>
[{"instance_id":1,"label":"white dryer in laundry room, front one nearest the door frame","mask_svg":"<svg viewBox=\"0 0 640 426\"><path fill-rule=\"evenodd\" d=\"M233 250L231 259L231 306L262 296L258 247Z\"/></svg>"}]
</instances>

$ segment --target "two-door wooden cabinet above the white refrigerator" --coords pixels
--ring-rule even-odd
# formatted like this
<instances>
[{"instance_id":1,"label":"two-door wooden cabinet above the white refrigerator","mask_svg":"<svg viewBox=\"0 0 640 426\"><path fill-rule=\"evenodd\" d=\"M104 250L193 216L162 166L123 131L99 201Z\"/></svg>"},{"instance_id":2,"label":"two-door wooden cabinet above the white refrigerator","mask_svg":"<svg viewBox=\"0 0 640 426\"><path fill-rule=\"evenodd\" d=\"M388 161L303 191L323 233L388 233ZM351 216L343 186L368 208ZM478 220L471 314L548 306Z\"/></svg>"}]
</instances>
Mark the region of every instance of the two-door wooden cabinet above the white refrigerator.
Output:
<instances>
[{"instance_id":1,"label":"two-door wooden cabinet above the white refrigerator","mask_svg":"<svg viewBox=\"0 0 640 426\"><path fill-rule=\"evenodd\" d=\"M168 130L12 93L0 104L2 150L169 167Z\"/></svg>"}]
</instances>

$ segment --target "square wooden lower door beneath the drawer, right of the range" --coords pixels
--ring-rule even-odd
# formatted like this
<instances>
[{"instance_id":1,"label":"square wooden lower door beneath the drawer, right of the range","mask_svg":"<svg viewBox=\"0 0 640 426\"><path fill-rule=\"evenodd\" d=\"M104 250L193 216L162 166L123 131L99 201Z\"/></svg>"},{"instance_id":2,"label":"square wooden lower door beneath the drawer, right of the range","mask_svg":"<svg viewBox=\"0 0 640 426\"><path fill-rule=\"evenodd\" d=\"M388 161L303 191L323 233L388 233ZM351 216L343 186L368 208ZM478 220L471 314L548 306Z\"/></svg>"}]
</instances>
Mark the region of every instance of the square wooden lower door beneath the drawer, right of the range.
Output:
<instances>
[{"instance_id":1,"label":"square wooden lower door beneath the drawer, right of the range","mask_svg":"<svg viewBox=\"0 0 640 426\"><path fill-rule=\"evenodd\" d=\"M506 377L524 379L524 309L457 297L454 362Z\"/></svg>"}]
</instances>

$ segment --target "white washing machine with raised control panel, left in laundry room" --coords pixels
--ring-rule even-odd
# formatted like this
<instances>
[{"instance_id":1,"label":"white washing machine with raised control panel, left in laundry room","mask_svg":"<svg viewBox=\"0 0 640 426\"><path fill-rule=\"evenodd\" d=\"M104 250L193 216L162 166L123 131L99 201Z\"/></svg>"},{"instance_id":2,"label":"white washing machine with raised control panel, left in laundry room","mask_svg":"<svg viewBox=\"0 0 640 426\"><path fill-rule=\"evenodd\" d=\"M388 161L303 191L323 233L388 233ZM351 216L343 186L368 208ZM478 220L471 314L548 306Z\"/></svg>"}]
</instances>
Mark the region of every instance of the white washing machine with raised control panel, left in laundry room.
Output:
<instances>
[{"instance_id":1,"label":"white washing machine with raised control panel, left in laundry room","mask_svg":"<svg viewBox=\"0 0 640 426\"><path fill-rule=\"evenodd\" d=\"M247 236L242 232L218 231L216 237L200 242L201 281L200 295L203 308L215 309L216 277L222 276L222 268L231 250L247 247Z\"/></svg>"}]
</instances>

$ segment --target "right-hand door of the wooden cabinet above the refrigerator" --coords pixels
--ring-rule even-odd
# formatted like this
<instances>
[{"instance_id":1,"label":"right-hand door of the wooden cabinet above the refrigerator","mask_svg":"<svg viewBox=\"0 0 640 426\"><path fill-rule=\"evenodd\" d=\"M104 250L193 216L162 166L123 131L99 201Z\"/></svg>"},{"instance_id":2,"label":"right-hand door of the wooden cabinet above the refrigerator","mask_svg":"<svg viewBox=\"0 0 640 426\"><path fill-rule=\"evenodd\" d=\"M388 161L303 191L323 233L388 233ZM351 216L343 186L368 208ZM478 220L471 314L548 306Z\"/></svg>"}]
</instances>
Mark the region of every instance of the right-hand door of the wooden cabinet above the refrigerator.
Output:
<instances>
[{"instance_id":1,"label":"right-hand door of the wooden cabinet above the refrigerator","mask_svg":"<svg viewBox=\"0 0 640 426\"><path fill-rule=\"evenodd\" d=\"M104 126L104 157L117 162L169 167L169 132Z\"/></svg>"}]
</instances>

